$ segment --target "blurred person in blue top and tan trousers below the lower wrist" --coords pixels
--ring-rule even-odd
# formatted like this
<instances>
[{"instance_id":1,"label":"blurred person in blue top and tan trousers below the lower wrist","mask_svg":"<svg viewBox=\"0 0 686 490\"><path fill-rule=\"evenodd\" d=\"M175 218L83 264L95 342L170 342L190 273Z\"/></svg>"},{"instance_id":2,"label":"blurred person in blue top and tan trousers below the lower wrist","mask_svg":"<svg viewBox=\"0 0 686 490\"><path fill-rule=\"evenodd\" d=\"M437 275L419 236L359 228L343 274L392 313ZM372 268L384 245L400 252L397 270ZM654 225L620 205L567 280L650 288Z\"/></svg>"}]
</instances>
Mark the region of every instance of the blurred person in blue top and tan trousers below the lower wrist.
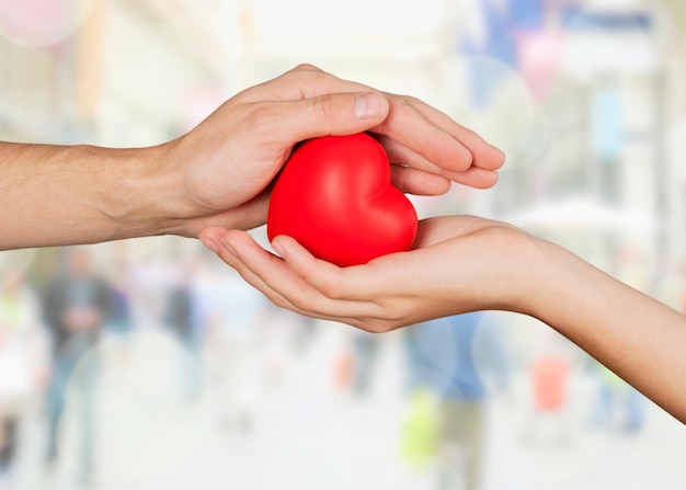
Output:
<instances>
[{"instance_id":1,"label":"blurred person in blue top and tan trousers below the lower wrist","mask_svg":"<svg viewBox=\"0 0 686 490\"><path fill-rule=\"evenodd\" d=\"M410 328L405 337L411 388L437 400L436 489L481 485L487 401L507 384L503 340L488 314L458 315ZM493 386L487 386L490 383Z\"/></svg>"}]
</instances>

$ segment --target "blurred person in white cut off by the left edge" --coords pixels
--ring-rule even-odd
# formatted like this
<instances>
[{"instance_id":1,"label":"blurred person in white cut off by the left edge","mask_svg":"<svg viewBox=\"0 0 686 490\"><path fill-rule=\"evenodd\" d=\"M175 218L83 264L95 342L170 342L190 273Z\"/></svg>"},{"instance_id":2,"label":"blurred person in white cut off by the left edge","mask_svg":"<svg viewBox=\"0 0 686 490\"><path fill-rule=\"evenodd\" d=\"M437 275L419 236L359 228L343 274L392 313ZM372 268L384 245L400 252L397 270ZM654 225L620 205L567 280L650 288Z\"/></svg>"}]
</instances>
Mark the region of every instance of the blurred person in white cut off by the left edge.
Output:
<instances>
[{"instance_id":1,"label":"blurred person in white cut off by the left edge","mask_svg":"<svg viewBox=\"0 0 686 490\"><path fill-rule=\"evenodd\" d=\"M0 489L11 486L21 426L46 384L47 339L37 306L22 271L0 271Z\"/></svg>"}]
</instances>

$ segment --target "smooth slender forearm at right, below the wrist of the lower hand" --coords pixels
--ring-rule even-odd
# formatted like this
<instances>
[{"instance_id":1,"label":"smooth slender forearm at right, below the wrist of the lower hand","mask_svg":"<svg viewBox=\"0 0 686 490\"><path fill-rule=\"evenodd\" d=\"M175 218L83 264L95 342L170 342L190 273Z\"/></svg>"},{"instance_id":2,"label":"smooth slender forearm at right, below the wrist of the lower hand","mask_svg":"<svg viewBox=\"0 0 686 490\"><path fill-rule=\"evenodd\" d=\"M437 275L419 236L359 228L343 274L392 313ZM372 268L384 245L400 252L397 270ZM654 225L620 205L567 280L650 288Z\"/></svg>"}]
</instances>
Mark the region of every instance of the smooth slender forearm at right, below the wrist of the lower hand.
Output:
<instances>
[{"instance_id":1,"label":"smooth slender forearm at right, below the wrist of the lower hand","mask_svg":"<svg viewBox=\"0 0 686 490\"><path fill-rule=\"evenodd\" d=\"M686 317L552 243L530 314L686 423Z\"/></svg>"}]
</instances>

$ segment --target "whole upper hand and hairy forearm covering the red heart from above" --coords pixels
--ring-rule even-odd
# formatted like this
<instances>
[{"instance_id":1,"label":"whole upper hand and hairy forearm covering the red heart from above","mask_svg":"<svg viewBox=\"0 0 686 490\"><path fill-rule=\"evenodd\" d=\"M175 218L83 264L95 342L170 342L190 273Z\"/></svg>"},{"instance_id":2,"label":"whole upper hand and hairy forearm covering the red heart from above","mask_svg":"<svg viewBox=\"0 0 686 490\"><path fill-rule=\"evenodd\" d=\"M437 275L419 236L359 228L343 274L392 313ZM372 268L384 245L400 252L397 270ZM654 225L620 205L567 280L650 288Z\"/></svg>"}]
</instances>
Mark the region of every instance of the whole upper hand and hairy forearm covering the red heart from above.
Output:
<instances>
[{"instance_id":1,"label":"whole upper hand and hairy forearm covering the red heart from above","mask_svg":"<svg viewBox=\"0 0 686 490\"><path fill-rule=\"evenodd\" d=\"M264 224L294 145L370 132L404 192L492 186L503 153L420 100L302 65L229 99L193 130L113 149L0 143L0 250L123 238L197 237ZM30 225L30 226L27 226Z\"/></svg>"}]
</instances>

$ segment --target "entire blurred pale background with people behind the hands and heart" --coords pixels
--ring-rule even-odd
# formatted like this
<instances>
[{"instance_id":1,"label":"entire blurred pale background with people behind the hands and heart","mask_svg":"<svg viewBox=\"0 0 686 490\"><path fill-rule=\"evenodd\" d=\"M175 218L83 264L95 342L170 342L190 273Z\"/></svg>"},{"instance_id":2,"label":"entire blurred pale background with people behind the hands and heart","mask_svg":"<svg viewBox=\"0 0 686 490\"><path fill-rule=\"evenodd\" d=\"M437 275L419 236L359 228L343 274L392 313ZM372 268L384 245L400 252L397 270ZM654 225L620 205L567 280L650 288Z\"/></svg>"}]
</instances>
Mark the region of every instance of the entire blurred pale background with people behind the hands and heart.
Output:
<instances>
[{"instance_id":1,"label":"entire blurred pale background with people behind the hands and heart","mask_svg":"<svg viewBox=\"0 0 686 490\"><path fill-rule=\"evenodd\" d=\"M683 0L0 0L0 139L156 145L311 62L507 153L420 215L510 220L684 310L685 32ZM278 310L195 240L3 252L0 489L686 486L683 424L545 324L431 323Z\"/></svg>"}]
</instances>

